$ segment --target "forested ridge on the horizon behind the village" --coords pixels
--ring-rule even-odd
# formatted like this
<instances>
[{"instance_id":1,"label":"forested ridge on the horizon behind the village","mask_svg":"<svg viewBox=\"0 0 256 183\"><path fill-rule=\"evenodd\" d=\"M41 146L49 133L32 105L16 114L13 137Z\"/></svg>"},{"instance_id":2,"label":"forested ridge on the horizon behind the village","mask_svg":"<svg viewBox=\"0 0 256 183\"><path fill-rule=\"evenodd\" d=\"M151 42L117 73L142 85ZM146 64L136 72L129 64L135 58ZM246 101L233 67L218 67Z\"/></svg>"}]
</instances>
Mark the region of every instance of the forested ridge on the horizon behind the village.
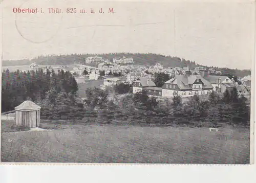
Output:
<instances>
[{"instance_id":1,"label":"forested ridge on the horizon behind the village","mask_svg":"<svg viewBox=\"0 0 256 183\"><path fill-rule=\"evenodd\" d=\"M84 63L86 57L95 56L96 54L71 54L71 55L58 55L58 56L38 56L33 59L24 60L4 60L3 66L14 66L14 65L29 65L31 63L37 63L39 65L72 65L74 63ZM97 54L97 56L105 59L113 60L114 57L133 57L134 64L137 65L155 65L161 63L164 67L185 67L189 66L191 70L198 66L204 66L197 64L195 61L185 60L184 58L164 56L159 54L140 54L140 53L109 53L109 54ZM230 68L215 68L217 71L221 71L224 75L232 75L238 77L244 77L251 74L250 70L238 70Z\"/></svg>"}]
</instances>

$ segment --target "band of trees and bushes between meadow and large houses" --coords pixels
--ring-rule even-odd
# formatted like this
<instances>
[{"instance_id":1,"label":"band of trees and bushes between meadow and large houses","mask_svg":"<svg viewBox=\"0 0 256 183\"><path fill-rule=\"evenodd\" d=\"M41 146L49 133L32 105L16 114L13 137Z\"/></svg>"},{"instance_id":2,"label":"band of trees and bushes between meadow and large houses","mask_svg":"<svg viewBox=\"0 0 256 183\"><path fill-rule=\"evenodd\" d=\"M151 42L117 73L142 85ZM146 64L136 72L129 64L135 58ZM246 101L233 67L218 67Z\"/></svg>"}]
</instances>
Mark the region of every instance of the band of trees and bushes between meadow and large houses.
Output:
<instances>
[{"instance_id":1,"label":"band of trees and bushes between meadow and large houses","mask_svg":"<svg viewBox=\"0 0 256 183\"><path fill-rule=\"evenodd\" d=\"M119 94L117 86L115 90ZM249 125L250 109L247 99L243 96L239 98L236 88L226 90L223 96L212 92L205 99L193 96L187 102L182 102L179 96L173 100L159 101L155 97L148 97L144 90L136 94L126 93L122 98L113 97L113 91L109 92L108 89L88 88L86 94L87 98L79 109L72 109L70 102L61 104L62 107L67 106L66 110L61 109L62 118L73 110L77 119L86 122L183 123L195 126L207 122L213 127L220 123ZM69 117L74 118L74 114Z\"/></svg>"}]
</instances>

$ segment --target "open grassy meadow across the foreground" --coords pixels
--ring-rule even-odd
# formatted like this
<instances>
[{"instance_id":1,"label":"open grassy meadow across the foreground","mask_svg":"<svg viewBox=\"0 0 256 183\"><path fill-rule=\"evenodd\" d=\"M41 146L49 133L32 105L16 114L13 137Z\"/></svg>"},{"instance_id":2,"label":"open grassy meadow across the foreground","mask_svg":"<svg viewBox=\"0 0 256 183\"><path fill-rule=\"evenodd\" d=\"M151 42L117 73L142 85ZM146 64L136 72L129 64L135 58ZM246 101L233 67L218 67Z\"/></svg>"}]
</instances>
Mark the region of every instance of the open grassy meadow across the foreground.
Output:
<instances>
[{"instance_id":1,"label":"open grassy meadow across the foreground","mask_svg":"<svg viewBox=\"0 0 256 183\"><path fill-rule=\"evenodd\" d=\"M248 164L249 130L87 125L2 134L2 162Z\"/></svg>"}]
</instances>

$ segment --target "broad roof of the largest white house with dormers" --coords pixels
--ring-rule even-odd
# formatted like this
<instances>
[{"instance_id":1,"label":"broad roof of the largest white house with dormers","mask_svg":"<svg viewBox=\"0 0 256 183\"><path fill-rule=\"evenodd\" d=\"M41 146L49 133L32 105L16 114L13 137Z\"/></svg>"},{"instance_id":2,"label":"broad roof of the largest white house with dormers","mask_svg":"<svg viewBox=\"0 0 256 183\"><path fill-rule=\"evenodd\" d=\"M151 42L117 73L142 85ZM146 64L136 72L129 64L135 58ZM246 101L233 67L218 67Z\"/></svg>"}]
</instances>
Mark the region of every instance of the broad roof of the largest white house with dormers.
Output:
<instances>
[{"instance_id":1,"label":"broad roof of the largest white house with dormers","mask_svg":"<svg viewBox=\"0 0 256 183\"><path fill-rule=\"evenodd\" d=\"M196 79L200 79L203 82L203 89L212 89L212 85L200 75L177 75L174 78L166 81L165 83L177 84L178 87L183 89L192 89L190 84L193 84Z\"/></svg>"}]
</instances>

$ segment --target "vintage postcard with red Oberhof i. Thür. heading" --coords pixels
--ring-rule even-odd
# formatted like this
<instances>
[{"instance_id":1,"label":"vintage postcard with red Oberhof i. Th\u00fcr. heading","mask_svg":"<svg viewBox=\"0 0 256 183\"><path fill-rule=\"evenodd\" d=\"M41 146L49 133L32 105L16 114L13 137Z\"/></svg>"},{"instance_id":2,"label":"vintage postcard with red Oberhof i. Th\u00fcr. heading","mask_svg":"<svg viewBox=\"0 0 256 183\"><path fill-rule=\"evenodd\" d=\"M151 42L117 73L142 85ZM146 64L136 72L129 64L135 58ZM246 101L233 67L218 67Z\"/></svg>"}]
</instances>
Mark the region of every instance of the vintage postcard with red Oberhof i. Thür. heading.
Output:
<instances>
[{"instance_id":1,"label":"vintage postcard with red Oberhof i. Th\u00fcr. heading","mask_svg":"<svg viewBox=\"0 0 256 183\"><path fill-rule=\"evenodd\" d=\"M254 1L1 13L2 164L254 163Z\"/></svg>"}]
</instances>

